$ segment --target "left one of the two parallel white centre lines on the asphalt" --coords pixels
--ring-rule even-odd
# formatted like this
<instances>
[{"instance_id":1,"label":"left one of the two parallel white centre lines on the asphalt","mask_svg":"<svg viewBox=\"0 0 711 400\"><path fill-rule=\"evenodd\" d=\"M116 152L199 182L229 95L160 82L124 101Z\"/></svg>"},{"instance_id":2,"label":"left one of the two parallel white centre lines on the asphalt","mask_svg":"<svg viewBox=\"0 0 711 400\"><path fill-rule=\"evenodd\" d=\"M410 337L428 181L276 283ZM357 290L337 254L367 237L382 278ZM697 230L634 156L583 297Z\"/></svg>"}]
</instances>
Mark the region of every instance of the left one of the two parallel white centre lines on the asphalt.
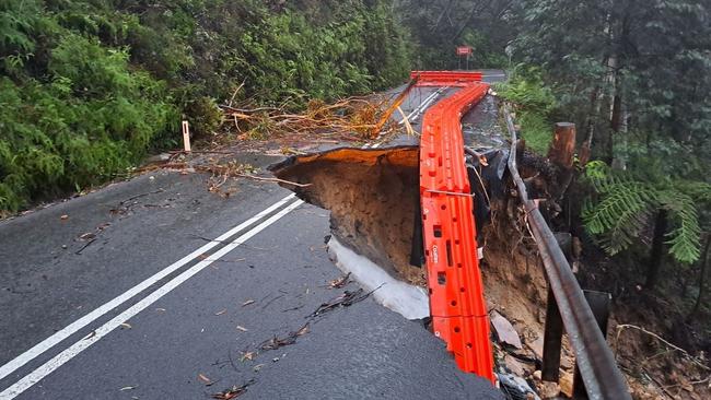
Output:
<instances>
[{"instance_id":1,"label":"left one of the two parallel white centre lines on the asphalt","mask_svg":"<svg viewBox=\"0 0 711 400\"><path fill-rule=\"evenodd\" d=\"M3 365L0 367L0 379L7 377L8 375L14 373L19 368L21 368L23 365L27 364L42 353L46 352L47 350L51 349L55 346L57 343L61 342L62 340L69 338L70 336L77 333L79 330L88 326L89 323L95 321L106 313L110 311L112 309L120 306L131 297L136 296L137 294L143 292L158 281L162 280L163 278L170 275L171 273L177 271L182 267L186 266L197 257L203 255L206 251L212 249L213 247L220 245L221 243L228 240L230 237L236 235L237 233L246 230L247 227L252 226L254 223L260 221L265 216L269 215L277 209L280 209L283 207L287 202L289 202L291 199L294 198L295 195L290 195L287 196L285 198L281 199L279 202L276 204L271 205L270 208L266 209L265 211L258 213L257 215L250 217L249 220L243 222L242 224L237 225L236 227L233 227L232 230L228 231L213 242L210 242L206 244L205 246L200 247L199 249L193 251L188 256L183 257L180 260L176 261L175 263L168 266L164 270L155 273L151 278L144 280L143 282L139 283L138 285L131 287L124 294L119 295L118 297L112 299L110 302L104 304L103 306L94 309L93 311L86 314L85 316L79 318L74 322L70 323L62 330L56 332L55 334L50 336L49 338L43 340L32 349L27 350L26 352L20 354L16 356L14 360L10 361L8 364Z\"/></svg>"}]
</instances>

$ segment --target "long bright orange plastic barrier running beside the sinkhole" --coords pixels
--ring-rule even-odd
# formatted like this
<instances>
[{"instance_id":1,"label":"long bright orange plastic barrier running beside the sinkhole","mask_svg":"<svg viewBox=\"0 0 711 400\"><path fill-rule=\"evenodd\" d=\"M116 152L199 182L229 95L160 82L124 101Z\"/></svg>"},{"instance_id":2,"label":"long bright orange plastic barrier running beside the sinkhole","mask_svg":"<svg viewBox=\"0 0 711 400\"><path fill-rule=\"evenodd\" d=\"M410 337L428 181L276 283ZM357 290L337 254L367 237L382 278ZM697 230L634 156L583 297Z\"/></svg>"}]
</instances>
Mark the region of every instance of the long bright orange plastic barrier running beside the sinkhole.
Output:
<instances>
[{"instance_id":1,"label":"long bright orange plastic barrier running beside the sinkhole","mask_svg":"<svg viewBox=\"0 0 711 400\"><path fill-rule=\"evenodd\" d=\"M462 73L420 74L442 85L464 82ZM479 74L480 75L480 74ZM431 107L422 121L420 196L430 309L435 336L443 339L464 372L494 383L489 317L477 257L474 200L467 176L462 116L489 89L476 77ZM432 82L432 81L430 81Z\"/></svg>"}]
</instances>

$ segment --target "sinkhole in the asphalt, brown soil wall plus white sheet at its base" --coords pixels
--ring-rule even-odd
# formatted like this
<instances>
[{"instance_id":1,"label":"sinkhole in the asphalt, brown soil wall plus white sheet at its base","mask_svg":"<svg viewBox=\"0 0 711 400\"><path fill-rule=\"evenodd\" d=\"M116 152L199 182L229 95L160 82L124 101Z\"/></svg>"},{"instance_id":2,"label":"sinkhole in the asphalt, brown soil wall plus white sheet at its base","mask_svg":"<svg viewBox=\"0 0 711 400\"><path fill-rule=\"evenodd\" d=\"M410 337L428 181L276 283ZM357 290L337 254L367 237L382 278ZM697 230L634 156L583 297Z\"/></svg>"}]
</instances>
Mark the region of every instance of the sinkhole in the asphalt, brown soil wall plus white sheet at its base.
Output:
<instances>
[{"instance_id":1,"label":"sinkhole in the asphalt, brown soil wall plus white sheet at its base","mask_svg":"<svg viewBox=\"0 0 711 400\"><path fill-rule=\"evenodd\" d=\"M410 259L421 247L415 235L418 146L341 148L292 156L269 169L280 179L308 185L282 184L330 211L329 257L338 268L365 290L377 289L373 296L385 307L408 319L429 316L426 271Z\"/></svg>"}]
</instances>

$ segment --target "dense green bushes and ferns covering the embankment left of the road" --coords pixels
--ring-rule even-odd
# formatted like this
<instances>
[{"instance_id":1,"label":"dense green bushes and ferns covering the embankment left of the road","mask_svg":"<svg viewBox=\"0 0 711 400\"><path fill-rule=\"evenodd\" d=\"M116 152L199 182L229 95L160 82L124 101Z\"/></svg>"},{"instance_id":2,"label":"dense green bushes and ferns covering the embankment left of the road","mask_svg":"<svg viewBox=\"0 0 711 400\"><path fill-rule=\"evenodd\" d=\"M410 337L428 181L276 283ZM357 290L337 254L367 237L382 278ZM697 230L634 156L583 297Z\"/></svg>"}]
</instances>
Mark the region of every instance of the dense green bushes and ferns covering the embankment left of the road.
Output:
<instances>
[{"instance_id":1,"label":"dense green bushes and ferns covering the embankment left of the road","mask_svg":"<svg viewBox=\"0 0 711 400\"><path fill-rule=\"evenodd\" d=\"M0 3L0 211L115 176L197 133L240 91L330 99L401 81L389 1L5 0Z\"/></svg>"}]
</instances>

